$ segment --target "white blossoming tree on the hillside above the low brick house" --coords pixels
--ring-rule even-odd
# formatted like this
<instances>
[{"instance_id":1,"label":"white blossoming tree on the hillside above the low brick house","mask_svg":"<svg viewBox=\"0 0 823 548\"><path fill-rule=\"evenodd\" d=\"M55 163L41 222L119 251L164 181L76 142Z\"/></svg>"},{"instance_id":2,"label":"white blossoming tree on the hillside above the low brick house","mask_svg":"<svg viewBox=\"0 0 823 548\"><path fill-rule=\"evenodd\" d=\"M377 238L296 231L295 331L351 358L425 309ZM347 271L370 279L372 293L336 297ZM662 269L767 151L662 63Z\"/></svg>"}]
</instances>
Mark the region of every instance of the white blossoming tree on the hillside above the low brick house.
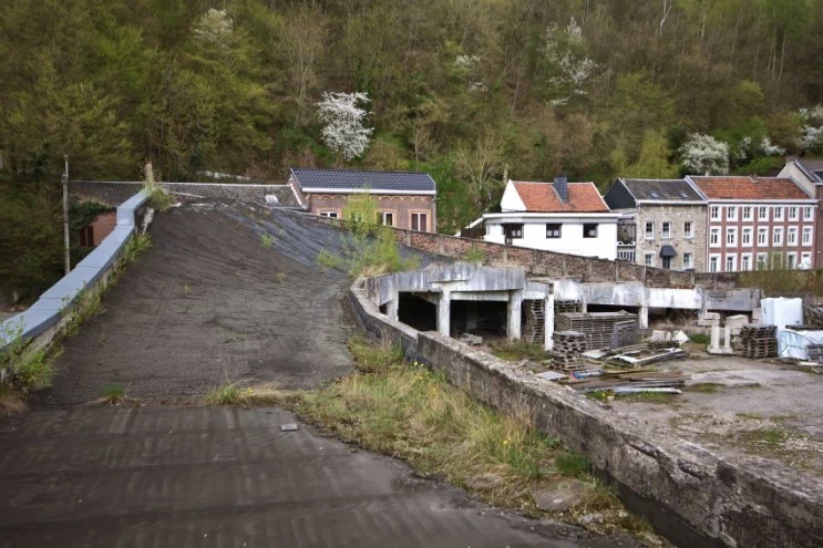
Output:
<instances>
[{"instance_id":1,"label":"white blossoming tree on the hillside above the low brick house","mask_svg":"<svg viewBox=\"0 0 823 548\"><path fill-rule=\"evenodd\" d=\"M373 128L366 127L370 113L360 105L369 102L366 93L323 93L317 103L317 117L322 122L326 145L347 162L362 156L369 147Z\"/></svg>"}]
</instances>

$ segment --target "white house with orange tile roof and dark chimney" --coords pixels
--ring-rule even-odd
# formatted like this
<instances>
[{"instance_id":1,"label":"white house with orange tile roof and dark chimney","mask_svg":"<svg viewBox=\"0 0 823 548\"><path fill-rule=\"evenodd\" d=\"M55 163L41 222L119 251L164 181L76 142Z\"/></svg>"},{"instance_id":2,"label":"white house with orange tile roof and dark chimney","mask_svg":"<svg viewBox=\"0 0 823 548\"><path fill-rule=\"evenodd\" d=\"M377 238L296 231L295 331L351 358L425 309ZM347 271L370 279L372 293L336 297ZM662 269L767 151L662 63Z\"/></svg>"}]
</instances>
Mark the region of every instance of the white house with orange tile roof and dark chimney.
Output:
<instances>
[{"instance_id":1,"label":"white house with orange tile roof and dark chimney","mask_svg":"<svg viewBox=\"0 0 823 548\"><path fill-rule=\"evenodd\" d=\"M615 259L617 219L594 183L510 180L501 213L483 216L485 241Z\"/></svg>"}]
</instances>

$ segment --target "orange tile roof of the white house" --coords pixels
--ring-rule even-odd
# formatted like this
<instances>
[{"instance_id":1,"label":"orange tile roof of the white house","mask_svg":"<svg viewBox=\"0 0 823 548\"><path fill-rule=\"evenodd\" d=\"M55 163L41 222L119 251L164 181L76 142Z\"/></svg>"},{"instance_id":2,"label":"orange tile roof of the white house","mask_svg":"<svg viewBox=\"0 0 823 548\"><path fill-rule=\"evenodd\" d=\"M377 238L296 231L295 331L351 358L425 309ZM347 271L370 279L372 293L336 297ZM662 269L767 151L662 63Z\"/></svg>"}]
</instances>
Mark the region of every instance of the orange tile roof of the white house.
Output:
<instances>
[{"instance_id":1,"label":"orange tile roof of the white house","mask_svg":"<svg viewBox=\"0 0 823 548\"><path fill-rule=\"evenodd\" d=\"M534 213L608 213L594 183L568 183L568 199L562 201L553 183L513 180L526 211Z\"/></svg>"}]
</instances>

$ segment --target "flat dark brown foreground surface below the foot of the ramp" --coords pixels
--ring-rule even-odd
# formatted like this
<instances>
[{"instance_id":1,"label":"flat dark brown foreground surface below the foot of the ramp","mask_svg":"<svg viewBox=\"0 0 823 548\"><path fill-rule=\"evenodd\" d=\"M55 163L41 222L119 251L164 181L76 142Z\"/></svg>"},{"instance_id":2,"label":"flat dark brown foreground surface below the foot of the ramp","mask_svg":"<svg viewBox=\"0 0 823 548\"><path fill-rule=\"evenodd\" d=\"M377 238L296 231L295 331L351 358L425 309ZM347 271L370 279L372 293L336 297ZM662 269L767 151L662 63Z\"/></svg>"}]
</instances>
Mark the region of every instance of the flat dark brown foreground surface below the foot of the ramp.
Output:
<instances>
[{"instance_id":1,"label":"flat dark brown foreground surface below the foot of the ramp","mask_svg":"<svg viewBox=\"0 0 823 548\"><path fill-rule=\"evenodd\" d=\"M6 420L0 546L637 546L505 515L306 425L280 432L291 422L202 407Z\"/></svg>"}]
</instances>

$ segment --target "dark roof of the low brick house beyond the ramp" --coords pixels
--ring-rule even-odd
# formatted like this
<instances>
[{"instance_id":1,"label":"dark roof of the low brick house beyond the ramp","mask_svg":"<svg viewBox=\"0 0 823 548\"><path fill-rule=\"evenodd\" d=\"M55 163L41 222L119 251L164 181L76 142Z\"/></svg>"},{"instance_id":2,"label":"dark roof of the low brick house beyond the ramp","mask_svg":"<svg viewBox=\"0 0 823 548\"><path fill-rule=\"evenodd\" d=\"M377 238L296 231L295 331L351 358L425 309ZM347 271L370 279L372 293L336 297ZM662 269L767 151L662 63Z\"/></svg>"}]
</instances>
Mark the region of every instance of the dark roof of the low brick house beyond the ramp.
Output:
<instances>
[{"instance_id":1,"label":"dark roof of the low brick house beyond the ramp","mask_svg":"<svg viewBox=\"0 0 823 548\"><path fill-rule=\"evenodd\" d=\"M418 172L361 172L354 169L304 169L291 174L304 190L371 190L392 194L434 194L434 179Z\"/></svg>"}]
</instances>

